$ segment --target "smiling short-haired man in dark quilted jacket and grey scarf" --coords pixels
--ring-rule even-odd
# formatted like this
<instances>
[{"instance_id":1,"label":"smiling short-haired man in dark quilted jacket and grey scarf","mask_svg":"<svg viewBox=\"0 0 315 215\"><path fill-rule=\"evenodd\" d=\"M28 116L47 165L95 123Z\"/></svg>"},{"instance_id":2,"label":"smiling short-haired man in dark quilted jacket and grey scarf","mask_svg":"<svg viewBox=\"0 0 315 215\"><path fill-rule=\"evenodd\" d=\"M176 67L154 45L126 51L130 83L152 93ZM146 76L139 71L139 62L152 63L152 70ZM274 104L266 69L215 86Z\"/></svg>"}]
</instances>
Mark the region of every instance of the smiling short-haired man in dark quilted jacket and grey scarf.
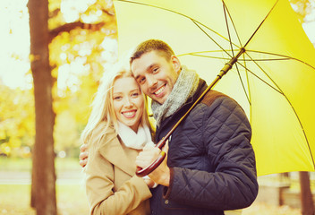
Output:
<instances>
[{"instance_id":1,"label":"smiling short-haired man in dark quilted jacket and grey scarf","mask_svg":"<svg viewBox=\"0 0 315 215\"><path fill-rule=\"evenodd\" d=\"M142 42L131 57L132 73L152 99L156 142L163 138L207 88L182 66L171 47ZM149 176L151 214L224 214L251 205L258 193L251 125L234 99L210 90L168 139L167 165ZM145 148L136 160L145 168L159 153Z\"/></svg>"}]
</instances>

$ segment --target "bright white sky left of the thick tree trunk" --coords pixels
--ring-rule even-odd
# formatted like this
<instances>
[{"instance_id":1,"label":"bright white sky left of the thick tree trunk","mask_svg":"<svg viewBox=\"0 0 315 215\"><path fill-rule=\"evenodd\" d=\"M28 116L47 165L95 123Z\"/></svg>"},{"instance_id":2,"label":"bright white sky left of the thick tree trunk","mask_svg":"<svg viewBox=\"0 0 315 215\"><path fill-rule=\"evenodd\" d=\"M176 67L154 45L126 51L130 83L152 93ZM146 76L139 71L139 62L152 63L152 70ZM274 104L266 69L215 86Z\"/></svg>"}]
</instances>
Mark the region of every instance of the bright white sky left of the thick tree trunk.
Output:
<instances>
[{"instance_id":1,"label":"bright white sky left of the thick tree trunk","mask_svg":"<svg viewBox=\"0 0 315 215\"><path fill-rule=\"evenodd\" d=\"M31 75L25 75L30 70L30 28L26 4L27 0L0 1L0 78L12 88L31 87Z\"/></svg>"}]
</instances>

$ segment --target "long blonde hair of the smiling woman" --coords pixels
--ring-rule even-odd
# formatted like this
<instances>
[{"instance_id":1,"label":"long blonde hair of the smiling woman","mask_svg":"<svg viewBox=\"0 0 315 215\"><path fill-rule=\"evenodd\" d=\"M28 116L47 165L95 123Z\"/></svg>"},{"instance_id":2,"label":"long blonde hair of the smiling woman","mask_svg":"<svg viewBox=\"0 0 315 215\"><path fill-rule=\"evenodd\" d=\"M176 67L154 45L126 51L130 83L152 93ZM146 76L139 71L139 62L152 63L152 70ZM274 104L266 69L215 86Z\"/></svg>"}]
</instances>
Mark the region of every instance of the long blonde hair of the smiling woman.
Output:
<instances>
[{"instance_id":1,"label":"long blonde hair of the smiling woman","mask_svg":"<svg viewBox=\"0 0 315 215\"><path fill-rule=\"evenodd\" d=\"M81 142L87 143L89 149L96 150L99 147L96 145L89 145L89 139L99 124L103 122L106 124L104 130L105 133L109 126L114 126L115 133L118 131L117 117L115 116L113 106L113 85L117 79L123 77L133 77L133 75L130 70L129 62L121 60L114 64L110 71L104 73L102 79L100 80L98 91L91 104L92 111L89 116L88 124L81 133ZM144 97L144 108L142 117L140 118L140 124L148 125L150 130L152 130L149 125L147 98L143 93L142 95Z\"/></svg>"}]
</instances>

